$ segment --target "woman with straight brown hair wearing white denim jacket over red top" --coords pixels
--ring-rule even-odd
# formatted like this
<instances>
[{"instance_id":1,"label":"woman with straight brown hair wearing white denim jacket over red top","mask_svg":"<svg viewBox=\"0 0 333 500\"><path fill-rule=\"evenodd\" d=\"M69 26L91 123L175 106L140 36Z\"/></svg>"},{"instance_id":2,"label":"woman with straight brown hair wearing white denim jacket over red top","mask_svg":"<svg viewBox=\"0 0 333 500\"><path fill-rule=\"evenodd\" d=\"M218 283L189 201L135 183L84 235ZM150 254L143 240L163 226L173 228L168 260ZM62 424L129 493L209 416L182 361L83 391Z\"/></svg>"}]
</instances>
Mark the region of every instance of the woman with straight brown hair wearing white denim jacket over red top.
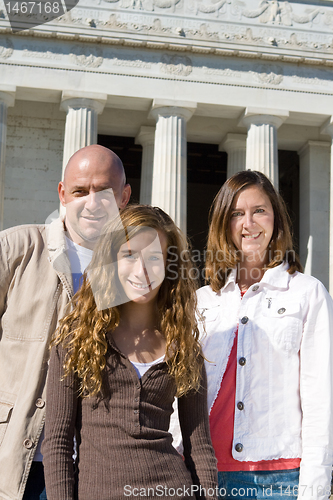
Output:
<instances>
[{"instance_id":1,"label":"woman with straight brown hair wearing white denim jacket over red top","mask_svg":"<svg viewBox=\"0 0 333 500\"><path fill-rule=\"evenodd\" d=\"M222 186L198 291L221 498L330 494L333 306L260 172Z\"/></svg>"}]
</instances>

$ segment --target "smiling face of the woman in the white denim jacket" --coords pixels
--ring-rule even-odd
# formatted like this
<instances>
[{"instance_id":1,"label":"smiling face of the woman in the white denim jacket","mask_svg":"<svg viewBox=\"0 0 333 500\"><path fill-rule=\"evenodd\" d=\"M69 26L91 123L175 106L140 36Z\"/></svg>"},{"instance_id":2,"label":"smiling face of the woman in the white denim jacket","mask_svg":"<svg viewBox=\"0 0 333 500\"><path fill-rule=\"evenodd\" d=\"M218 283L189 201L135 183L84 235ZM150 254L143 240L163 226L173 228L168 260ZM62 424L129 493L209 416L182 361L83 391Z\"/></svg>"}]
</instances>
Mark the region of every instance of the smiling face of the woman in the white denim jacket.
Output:
<instances>
[{"instance_id":1,"label":"smiling face of the woman in the white denim jacket","mask_svg":"<svg viewBox=\"0 0 333 500\"><path fill-rule=\"evenodd\" d=\"M231 239L248 261L262 262L274 229L270 199L258 186L251 186L234 199L231 209Z\"/></svg>"}]
</instances>

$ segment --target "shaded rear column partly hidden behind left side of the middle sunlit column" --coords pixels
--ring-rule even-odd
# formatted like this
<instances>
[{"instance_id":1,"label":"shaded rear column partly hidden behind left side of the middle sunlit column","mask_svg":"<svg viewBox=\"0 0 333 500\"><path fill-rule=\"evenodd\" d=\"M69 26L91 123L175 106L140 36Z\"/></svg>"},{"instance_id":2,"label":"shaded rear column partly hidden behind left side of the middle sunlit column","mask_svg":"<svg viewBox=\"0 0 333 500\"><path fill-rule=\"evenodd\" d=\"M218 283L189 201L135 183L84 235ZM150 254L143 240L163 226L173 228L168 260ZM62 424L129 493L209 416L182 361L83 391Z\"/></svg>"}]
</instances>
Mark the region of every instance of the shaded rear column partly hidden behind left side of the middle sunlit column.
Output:
<instances>
[{"instance_id":1,"label":"shaded rear column partly hidden behind left side of the middle sunlit column","mask_svg":"<svg viewBox=\"0 0 333 500\"><path fill-rule=\"evenodd\" d=\"M142 146L140 203L150 205L153 188L155 127L141 127L135 144Z\"/></svg>"}]
</instances>

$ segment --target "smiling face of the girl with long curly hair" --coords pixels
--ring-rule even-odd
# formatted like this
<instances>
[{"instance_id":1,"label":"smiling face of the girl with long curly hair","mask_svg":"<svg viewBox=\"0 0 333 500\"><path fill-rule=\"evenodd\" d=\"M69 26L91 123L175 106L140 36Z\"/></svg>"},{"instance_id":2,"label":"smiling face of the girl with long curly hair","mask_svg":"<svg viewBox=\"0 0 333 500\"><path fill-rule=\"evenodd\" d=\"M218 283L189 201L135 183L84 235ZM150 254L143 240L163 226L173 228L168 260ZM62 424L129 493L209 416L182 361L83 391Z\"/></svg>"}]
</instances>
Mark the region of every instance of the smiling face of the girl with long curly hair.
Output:
<instances>
[{"instance_id":1,"label":"smiling face of the girl with long curly hair","mask_svg":"<svg viewBox=\"0 0 333 500\"><path fill-rule=\"evenodd\" d=\"M129 301L146 304L156 299L165 276L167 237L147 228L121 245L118 277Z\"/></svg>"}]
</instances>

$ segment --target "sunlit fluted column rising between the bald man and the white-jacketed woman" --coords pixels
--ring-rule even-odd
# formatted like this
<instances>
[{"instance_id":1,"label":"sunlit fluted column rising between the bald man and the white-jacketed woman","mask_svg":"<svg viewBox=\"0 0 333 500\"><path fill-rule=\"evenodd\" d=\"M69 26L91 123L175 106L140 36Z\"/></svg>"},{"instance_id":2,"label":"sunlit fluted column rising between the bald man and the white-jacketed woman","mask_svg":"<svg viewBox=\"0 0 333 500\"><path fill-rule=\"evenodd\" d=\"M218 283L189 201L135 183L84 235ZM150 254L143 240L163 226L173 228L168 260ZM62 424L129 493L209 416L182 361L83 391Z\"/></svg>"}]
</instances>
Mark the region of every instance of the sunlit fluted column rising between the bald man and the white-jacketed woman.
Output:
<instances>
[{"instance_id":1,"label":"sunlit fluted column rising between the bald man and the white-jacketed woman","mask_svg":"<svg viewBox=\"0 0 333 500\"><path fill-rule=\"evenodd\" d=\"M152 205L167 212L186 233L186 122L196 103L155 99L150 117L156 120Z\"/></svg>"}]
</instances>

